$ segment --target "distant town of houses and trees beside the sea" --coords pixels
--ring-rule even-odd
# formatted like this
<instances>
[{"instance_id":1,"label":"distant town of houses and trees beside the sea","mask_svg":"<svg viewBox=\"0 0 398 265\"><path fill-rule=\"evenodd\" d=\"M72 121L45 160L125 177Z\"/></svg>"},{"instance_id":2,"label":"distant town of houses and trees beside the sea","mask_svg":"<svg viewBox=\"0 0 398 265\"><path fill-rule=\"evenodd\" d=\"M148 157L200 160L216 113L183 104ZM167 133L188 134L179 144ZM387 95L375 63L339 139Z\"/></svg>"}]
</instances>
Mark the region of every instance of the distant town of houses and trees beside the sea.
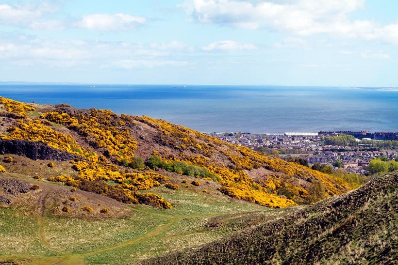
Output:
<instances>
[{"instance_id":1,"label":"distant town of houses and trees beside the sea","mask_svg":"<svg viewBox=\"0 0 398 265\"><path fill-rule=\"evenodd\" d=\"M398 132L286 132L251 134L249 132L206 133L229 143L279 156L292 161L301 158L309 165L331 164L347 172L368 174L373 158L398 161Z\"/></svg>"}]
</instances>

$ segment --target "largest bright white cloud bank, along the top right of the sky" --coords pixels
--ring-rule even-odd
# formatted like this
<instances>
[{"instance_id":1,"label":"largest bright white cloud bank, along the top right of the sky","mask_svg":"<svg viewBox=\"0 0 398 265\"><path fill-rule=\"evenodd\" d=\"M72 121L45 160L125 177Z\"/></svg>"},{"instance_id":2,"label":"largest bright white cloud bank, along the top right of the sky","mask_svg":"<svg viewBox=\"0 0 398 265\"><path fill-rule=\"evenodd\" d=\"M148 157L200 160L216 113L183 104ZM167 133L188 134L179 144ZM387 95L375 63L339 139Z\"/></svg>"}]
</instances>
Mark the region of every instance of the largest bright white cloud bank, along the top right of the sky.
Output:
<instances>
[{"instance_id":1,"label":"largest bright white cloud bank, along the top right of the sky","mask_svg":"<svg viewBox=\"0 0 398 265\"><path fill-rule=\"evenodd\" d=\"M348 19L348 13L363 5L364 0L185 0L182 7L199 23L271 28L302 36L329 33L398 44L398 24Z\"/></svg>"}]
</instances>

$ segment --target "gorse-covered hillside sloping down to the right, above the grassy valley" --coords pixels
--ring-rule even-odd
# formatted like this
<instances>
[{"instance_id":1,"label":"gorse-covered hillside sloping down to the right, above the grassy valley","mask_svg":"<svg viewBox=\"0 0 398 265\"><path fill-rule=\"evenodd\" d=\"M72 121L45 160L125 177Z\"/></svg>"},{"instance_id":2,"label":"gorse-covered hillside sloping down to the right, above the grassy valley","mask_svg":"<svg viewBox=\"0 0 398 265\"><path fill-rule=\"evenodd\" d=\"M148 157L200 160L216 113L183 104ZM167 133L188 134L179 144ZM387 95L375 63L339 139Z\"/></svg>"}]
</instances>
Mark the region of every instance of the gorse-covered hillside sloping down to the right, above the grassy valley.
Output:
<instances>
[{"instance_id":1,"label":"gorse-covered hillside sloping down to the right, above the grassy valley","mask_svg":"<svg viewBox=\"0 0 398 265\"><path fill-rule=\"evenodd\" d=\"M159 195L142 192L160 185L205 192L214 183L216 192L275 208L353 188L341 178L146 116L0 97L0 119L3 154L50 160L47 167L32 168L32 160L21 169L4 156L6 171L40 175L124 203L171 208Z\"/></svg>"}]
</instances>

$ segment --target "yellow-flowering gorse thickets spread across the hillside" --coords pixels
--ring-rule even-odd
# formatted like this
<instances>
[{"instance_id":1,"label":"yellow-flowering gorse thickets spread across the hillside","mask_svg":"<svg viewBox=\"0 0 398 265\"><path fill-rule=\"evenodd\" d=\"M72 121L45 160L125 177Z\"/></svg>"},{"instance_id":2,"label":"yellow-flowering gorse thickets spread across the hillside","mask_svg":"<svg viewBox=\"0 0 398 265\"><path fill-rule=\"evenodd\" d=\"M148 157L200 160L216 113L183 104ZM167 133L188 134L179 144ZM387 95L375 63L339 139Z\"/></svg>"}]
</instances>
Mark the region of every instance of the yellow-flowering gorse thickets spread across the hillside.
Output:
<instances>
[{"instance_id":1,"label":"yellow-flowering gorse thickets spread across the hillside","mask_svg":"<svg viewBox=\"0 0 398 265\"><path fill-rule=\"evenodd\" d=\"M27 111L34 111L33 107L2 97L0 99L7 111L25 117L16 120L16 124L8 128L7 134L0 135L0 139L42 141L51 147L79 156L80 159L72 161L72 167L77 171L76 178L56 176L49 180L73 187L80 187L84 182L113 181L116 187L105 186L102 192L120 201L171 207L171 204L157 195L144 196L137 193L138 190L166 183L166 176L153 171L127 173L114 164L128 165L132 162L138 144L132 130L136 122L155 128L158 132L156 142L174 150L153 150L153 155L168 163L182 162L207 170L211 175L202 176L204 180L221 184L219 190L231 197L269 207L285 207L294 205L295 202L308 202L308 188L298 185L295 179L309 183L320 180L326 196L339 194L350 188L341 178L336 180L331 175L288 163L247 147L229 144L164 120L147 116L116 115L110 110L77 110L67 106L43 113L40 119L30 119ZM74 136L65 133L65 127L55 129L59 127L55 124L65 126ZM86 143L94 151L87 148ZM250 172L262 168L268 172L267 177L254 181L249 176ZM286 196L279 196L281 191Z\"/></svg>"}]
</instances>

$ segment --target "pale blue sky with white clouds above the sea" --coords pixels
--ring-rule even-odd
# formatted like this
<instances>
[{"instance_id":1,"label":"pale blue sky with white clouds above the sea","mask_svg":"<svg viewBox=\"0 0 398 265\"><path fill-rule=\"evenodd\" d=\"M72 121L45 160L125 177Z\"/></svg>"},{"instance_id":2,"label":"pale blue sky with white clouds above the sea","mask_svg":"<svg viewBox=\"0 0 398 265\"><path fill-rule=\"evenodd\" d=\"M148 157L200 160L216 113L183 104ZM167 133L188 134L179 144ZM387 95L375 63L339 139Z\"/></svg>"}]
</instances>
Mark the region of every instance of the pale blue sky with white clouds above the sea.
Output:
<instances>
[{"instance_id":1,"label":"pale blue sky with white clouds above the sea","mask_svg":"<svg viewBox=\"0 0 398 265\"><path fill-rule=\"evenodd\" d=\"M0 82L398 86L397 0L0 0Z\"/></svg>"}]
</instances>

